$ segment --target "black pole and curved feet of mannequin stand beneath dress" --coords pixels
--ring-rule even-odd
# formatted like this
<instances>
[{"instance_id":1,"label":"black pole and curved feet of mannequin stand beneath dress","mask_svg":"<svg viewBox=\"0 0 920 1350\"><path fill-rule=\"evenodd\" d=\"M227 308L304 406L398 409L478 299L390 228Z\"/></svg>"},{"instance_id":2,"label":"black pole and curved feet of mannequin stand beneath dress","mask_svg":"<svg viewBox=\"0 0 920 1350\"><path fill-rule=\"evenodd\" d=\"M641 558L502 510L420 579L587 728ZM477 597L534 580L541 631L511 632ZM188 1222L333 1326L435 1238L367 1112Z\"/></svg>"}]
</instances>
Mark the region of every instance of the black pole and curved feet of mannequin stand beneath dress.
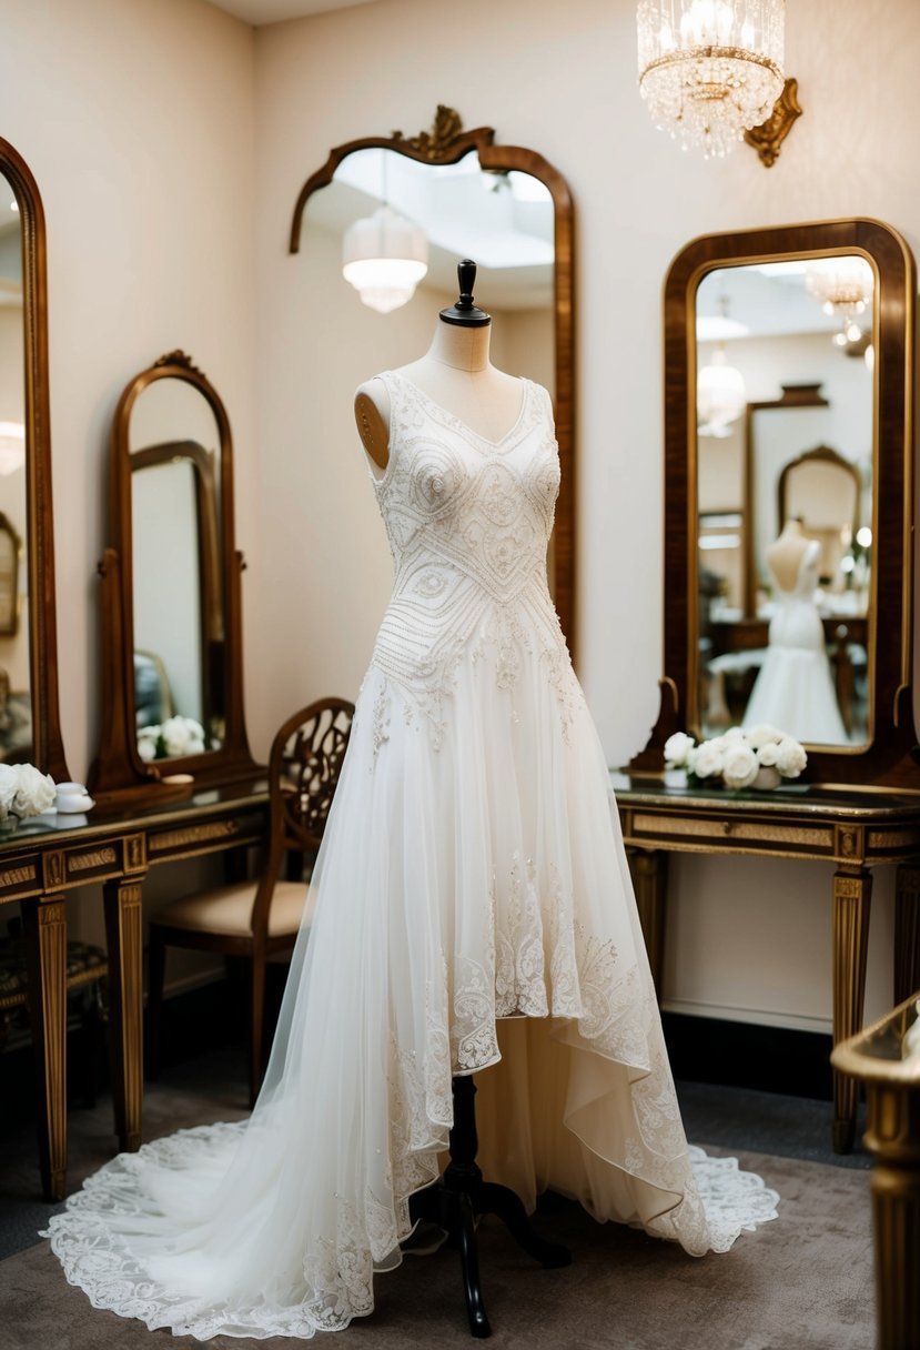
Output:
<instances>
[{"instance_id":1,"label":"black pole and curved feet of mannequin stand beneath dress","mask_svg":"<svg viewBox=\"0 0 920 1350\"><path fill-rule=\"evenodd\" d=\"M514 1191L495 1181L483 1181L476 1165L479 1139L475 1095L472 1075L457 1075L453 1079L451 1162L434 1185L418 1191L410 1199L409 1211L413 1219L428 1219L447 1228L451 1245L459 1247L469 1331L482 1339L491 1335L491 1327L479 1282L478 1215L498 1215L514 1241L548 1270L569 1265L572 1253L534 1233L527 1211Z\"/></svg>"}]
</instances>

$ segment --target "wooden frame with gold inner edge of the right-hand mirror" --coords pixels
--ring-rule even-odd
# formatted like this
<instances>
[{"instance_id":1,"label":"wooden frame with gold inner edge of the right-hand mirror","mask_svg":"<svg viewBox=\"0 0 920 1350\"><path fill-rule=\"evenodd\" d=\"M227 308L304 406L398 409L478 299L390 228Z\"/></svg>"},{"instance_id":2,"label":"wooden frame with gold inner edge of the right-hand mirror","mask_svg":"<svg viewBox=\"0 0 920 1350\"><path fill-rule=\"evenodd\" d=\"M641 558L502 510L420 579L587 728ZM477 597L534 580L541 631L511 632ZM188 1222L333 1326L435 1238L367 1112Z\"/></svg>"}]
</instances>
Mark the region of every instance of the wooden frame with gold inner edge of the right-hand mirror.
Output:
<instances>
[{"instance_id":1,"label":"wooden frame with gold inner edge of the right-hand mirror","mask_svg":"<svg viewBox=\"0 0 920 1350\"><path fill-rule=\"evenodd\" d=\"M629 765L664 768L664 744L692 720L697 688L697 435L696 289L720 267L792 258L861 254L875 275L873 578L869 651L873 663L865 747L815 747L807 779L824 786L920 790L912 707L913 655L913 302L916 266L905 240L878 220L815 221L693 239L674 258L664 292L665 320L665 597L661 710L652 737ZM882 547L878 547L881 541Z\"/></svg>"}]
</instances>

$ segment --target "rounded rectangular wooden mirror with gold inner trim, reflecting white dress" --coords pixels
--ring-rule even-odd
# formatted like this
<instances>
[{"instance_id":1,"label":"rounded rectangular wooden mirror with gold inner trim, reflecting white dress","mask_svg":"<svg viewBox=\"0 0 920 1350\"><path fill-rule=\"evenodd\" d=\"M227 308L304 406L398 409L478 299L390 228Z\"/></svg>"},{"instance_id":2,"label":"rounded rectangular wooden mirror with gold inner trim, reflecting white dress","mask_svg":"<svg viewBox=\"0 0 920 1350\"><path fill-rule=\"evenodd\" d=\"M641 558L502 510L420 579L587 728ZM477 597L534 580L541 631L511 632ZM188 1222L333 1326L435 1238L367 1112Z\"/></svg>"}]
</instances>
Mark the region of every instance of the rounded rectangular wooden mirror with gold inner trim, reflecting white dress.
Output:
<instances>
[{"instance_id":1,"label":"rounded rectangular wooden mirror with gold inner trim, reflecting white dress","mask_svg":"<svg viewBox=\"0 0 920 1350\"><path fill-rule=\"evenodd\" d=\"M817 634L809 670L830 663L827 706L800 714L768 699L776 716L755 721L805 742L812 780L920 784L915 290L909 248L875 220L708 235L674 259L665 285L665 679L634 771L662 763L672 730L706 738L750 725L776 664L766 659L776 616L795 602ZM811 543L801 558L815 568L795 586L770 564L789 532ZM807 682L803 671L797 695Z\"/></svg>"}]
</instances>

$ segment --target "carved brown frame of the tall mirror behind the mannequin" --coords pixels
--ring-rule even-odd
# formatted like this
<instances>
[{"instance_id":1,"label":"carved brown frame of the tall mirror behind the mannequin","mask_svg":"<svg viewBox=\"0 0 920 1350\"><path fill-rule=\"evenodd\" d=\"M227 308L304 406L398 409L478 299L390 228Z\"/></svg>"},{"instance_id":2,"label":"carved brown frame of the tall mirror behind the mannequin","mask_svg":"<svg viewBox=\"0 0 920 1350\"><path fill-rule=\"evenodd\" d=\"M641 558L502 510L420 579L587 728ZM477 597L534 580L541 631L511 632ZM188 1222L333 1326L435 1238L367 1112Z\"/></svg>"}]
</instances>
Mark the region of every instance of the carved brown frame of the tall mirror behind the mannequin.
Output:
<instances>
[{"instance_id":1,"label":"carved brown frame of the tall mirror behind the mannequin","mask_svg":"<svg viewBox=\"0 0 920 1350\"><path fill-rule=\"evenodd\" d=\"M304 211L312 194L332 182L348 155L357 150L393 150L429 165L453 165L475 150L483 169L517 170L538 178L553 198L554 216L554 339L556 389L553 409L561 483L553 529L553 601L569 651L575 657L576 639L576 495L575 495L575 212L572 194L561 173L536 150L496 146L492 127L464 131L460 115L438 105L432 131L417 136L366 136L329 151L321 169L310 174L297 197L290 231L290 252L299 252ZM487 300L487 297L483 297Z\"/></svg>"}]
</instances>

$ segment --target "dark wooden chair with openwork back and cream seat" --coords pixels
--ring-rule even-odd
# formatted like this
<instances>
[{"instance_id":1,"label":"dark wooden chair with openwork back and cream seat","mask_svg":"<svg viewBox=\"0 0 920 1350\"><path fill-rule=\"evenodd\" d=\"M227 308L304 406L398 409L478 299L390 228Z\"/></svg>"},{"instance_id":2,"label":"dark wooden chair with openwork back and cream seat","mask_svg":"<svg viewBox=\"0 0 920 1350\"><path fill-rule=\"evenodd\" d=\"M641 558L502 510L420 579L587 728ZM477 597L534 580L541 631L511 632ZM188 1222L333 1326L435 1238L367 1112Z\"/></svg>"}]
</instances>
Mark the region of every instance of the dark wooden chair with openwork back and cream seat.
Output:
<instances>
[{"instance_id":1,"label":"dark wooden chair with openwork back and cream seat","mask_svg":"<svg viewBox=\"0 0 920 1350\"><path fill-rule=\"evenodd\" d=\"M150 923L148 1076L159 1071L159 1022L167 946L244 957L251 967L250 1102L262 1081L266 961L294 946L309 888L308 859L316 856L348 747L353 703L324 698L289 717L268 759L270 838L258 880L201 891L174 900ZM287 878L297 864L297 880Z\"/></svg>"}]
</instances>

